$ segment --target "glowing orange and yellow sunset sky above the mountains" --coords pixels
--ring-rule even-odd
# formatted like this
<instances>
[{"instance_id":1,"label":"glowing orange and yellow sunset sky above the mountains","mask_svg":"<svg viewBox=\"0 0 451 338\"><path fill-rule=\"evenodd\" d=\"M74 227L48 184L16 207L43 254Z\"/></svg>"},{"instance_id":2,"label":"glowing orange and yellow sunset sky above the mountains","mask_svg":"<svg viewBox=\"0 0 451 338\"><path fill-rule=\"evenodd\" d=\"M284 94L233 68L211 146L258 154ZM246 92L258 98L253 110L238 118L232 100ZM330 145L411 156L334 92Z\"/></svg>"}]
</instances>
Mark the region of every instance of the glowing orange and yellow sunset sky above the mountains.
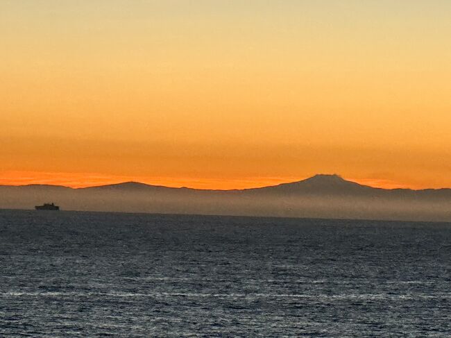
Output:
<instances>
[{"instance_id":1,"label":"glowing orange and yellow sunset sky above the mountains","mask_svg":"<svg viewBox=\"0 0 451 338\"><path fill-rule=\"evenodd\" d=\"M451 1L2 0L0 184L451 187Z\"/></svg>"}]
</instances>

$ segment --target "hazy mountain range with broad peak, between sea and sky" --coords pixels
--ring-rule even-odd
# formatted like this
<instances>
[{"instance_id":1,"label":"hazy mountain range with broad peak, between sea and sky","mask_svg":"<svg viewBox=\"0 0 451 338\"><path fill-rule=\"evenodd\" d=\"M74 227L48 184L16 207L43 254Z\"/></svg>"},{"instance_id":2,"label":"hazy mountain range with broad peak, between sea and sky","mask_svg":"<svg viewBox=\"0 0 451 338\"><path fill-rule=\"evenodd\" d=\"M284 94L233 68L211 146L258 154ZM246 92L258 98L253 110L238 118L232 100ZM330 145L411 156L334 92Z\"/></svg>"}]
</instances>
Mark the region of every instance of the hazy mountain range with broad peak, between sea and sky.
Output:
<instances>
[{"instance_id":1,"label":"hazy mountain range with broad peak, between sea and sky","mask_svg":"<svg viewBox=\"0 0 451 338\"><path fill-rule=\"evenodd\" d=\"M242 190L137 182L78 189L0 185L0 208L31 209L52 201L62 210L451 222L451 189L381 189L337 175L320 174L298 182Z\"/></svg>"}]
</instances>

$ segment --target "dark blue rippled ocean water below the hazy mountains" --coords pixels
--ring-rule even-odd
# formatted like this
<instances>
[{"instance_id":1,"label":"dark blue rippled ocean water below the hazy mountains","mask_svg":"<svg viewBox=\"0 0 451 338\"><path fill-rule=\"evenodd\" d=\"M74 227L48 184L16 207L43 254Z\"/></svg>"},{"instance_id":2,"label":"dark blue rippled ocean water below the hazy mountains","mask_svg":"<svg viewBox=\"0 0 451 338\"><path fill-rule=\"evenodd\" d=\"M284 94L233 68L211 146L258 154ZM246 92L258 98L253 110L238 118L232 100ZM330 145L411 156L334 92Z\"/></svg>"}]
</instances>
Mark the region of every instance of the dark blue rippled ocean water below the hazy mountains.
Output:
<instances>
[{"instance_id":1,"label":"dark blue rippled ocean water below the hazy mountains","mask_svg":"<svg viewBox=\"0 0 451 338\"><path fill-rule=\"evenodd\" d=\"M451 224L0 210L0 336L451 337Z\"/></svg>"}]
</instances>

